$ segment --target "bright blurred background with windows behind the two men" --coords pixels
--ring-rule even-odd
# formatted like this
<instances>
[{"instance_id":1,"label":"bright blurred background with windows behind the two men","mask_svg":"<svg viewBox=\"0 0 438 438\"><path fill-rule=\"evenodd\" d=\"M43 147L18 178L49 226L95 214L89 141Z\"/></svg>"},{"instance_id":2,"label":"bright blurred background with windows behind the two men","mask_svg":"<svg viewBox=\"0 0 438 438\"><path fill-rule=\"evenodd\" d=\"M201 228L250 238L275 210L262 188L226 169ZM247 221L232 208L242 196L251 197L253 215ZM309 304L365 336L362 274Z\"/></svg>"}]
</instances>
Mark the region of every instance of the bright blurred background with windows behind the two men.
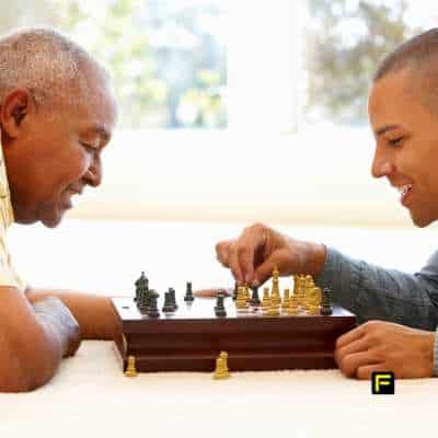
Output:
<instances>
[{"instance_id":1,"label":"bright blurred background with windows behind the two men","mask_svg":"<svg viewBox=\"0 0 438 438\"><path fill-rule=\"evenodd\" d=\"M371 178L367 94L382 57L437 19L426 0L1 2L0 33L70 35L108 69L120 106L102 186L55 231L15 227L18 264L74 287L87 272L94 289L124 288L141 257L157 277L172 265L181 281L222 281L215 242L265 221L415 269L436 227L414 229L397 192ZM194 253L208 266L196 269ZM113 273L107 284L99 269Z\"/></svg>"}]
</instances>

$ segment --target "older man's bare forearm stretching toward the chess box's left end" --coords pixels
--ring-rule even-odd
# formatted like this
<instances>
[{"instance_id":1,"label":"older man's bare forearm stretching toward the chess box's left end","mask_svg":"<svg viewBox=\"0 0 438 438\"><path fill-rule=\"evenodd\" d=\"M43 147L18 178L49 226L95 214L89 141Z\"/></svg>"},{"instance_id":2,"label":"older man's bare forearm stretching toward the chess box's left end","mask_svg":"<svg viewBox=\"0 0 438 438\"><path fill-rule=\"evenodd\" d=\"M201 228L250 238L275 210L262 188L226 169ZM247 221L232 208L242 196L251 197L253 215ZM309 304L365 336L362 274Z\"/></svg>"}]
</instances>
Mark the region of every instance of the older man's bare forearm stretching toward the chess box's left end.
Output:
<instances>
[{"instance_id":1,"label":"older man's bare forearm stretching toward the chess box's left end","mask_svg":"<svg viewBox=\"0 0 438 438\"><path fill-rule=\"evenodd\" d=\"M34 303L47 297L57 297L70 310L81 327L83 339L115 339L120 335L111 299L70 290L26 290L27 299Z\"/></svg>"}]
</instances>

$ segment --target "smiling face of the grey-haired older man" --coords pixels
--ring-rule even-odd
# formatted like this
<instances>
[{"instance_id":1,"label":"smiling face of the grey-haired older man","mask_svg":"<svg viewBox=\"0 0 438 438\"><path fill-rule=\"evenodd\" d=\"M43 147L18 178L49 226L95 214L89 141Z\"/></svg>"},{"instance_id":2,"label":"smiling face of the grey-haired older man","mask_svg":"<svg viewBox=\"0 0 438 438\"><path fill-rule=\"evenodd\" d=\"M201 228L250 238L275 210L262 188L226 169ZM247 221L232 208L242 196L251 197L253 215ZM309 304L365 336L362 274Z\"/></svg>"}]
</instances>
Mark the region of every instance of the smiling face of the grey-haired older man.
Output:
<instances>
[{"instance_id":1,"label":"smiling face of the grey-haired older man","mask_svg":"<svg viewBox=\"0 0 438 438\"><path fill-rule=\"evenodd\" d=\"M115 101L96 87L78 104L42 107L27 118L24 134L12 143L20 153L8 148L5 153L15 220L56 227L73 195L101 183L101 152L115 126Z\"/></svg>"}]
</instances>

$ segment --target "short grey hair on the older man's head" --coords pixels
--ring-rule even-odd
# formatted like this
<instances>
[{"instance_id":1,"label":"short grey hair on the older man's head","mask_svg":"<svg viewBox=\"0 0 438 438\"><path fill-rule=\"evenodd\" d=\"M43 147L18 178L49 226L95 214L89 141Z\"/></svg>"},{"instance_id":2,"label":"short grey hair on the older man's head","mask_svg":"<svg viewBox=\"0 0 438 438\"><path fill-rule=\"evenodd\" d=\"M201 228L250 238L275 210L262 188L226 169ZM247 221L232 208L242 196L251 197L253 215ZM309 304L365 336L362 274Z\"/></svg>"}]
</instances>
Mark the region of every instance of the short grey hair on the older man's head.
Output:
<instances>
[{"instance_id":1,"label":"short grey hair on the older man's head","mask_svg":"<svg viewBox=\"0 0 438 438\"><path fill-rule=\"evenodd\" d=\"M15 88L27 89L37 104L74 104L90 88L85 70L96 72L107 87L105 69L59 32L26 28L4 35L0 37L0 105Z\"/></svg>"}]
</instances>

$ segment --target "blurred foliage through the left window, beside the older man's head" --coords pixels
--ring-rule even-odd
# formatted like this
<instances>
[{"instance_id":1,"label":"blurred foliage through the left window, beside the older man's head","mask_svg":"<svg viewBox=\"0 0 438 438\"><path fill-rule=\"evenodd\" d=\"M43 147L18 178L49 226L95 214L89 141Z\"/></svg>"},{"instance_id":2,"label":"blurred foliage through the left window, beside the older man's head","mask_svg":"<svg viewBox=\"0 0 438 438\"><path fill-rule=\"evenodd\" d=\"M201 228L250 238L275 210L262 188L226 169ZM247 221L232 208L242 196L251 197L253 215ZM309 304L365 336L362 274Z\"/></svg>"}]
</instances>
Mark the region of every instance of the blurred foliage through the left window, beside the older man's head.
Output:
<instances>
[{"instance_id":1,"label":"blurred foliage through the left window, beside the older man's head","mask_svg":"<svg viewBox=\"0 0 438 438\"><path fill-rule=\"evenodd\" d=\"M14 0L0 33L46 25L80 43L113 77L122 128L221 128L224 48L201 26L221 14L200 0Z\"/></svg>"}]
</instances>

